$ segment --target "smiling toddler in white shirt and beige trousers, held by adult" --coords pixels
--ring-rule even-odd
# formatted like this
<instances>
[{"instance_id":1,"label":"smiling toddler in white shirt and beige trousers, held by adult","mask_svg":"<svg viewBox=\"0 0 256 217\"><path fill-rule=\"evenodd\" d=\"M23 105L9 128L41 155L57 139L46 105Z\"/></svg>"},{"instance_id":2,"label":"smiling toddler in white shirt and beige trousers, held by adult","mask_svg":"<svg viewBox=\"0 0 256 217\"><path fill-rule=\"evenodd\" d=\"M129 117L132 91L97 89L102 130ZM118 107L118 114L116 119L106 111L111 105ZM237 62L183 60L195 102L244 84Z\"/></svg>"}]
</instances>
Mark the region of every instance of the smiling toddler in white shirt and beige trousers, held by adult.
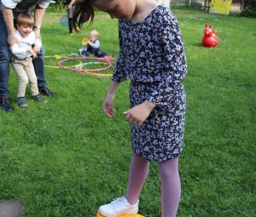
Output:
<instances>
[{"instance_id":1,"label":"smiling toddler in white shirt and beige trousers, held by adult","mask_svg":"<svg viewBox=\"0 0 256 217\"><path fill-rule=\"evenodd\" d=\"M34 20L30 14L19 14L16 17L15 34L19 40L19 43L15 43L11 46L13 54L12 65L19 78L19 87L17 94L17 103L21 108L26 108L25 92L26 84L28 81L31 85L32 99L37 102L46 102L38 94L38 81L32 64L32 58L36 58L37 54L32 48L38 46L41 48L42 43L36 38L36 34L32 31L34 26Z\"/></svg>"}]
</instances>

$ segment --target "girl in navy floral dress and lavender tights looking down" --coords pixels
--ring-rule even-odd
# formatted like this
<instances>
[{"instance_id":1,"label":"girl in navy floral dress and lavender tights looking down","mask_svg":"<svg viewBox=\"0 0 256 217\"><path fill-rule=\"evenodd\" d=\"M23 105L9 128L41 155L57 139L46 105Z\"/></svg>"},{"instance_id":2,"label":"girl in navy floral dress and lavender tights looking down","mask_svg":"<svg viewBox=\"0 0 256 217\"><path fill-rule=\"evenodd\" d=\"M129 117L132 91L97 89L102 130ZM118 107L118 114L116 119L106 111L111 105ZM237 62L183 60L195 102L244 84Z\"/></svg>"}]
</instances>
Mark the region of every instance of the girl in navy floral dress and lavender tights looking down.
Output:
<instances>
[{"instance_id":1,"label":"girl in navy floral dress and lavender tights looking down","mask_svg":"<svg viewBox=\"0 0 256 217\"><path fill-rule=\"evenodd\" d=\"M119 58L102 108L113 117L115 91L129 77L131 108L124 114L131 123L133 151L125 197L102 205L99 211L107 217L137 214L149 162L157 162L161 216L174 217L181 194L178 157L183 151L187 74L177 19L155 0L85 0L75 14L79 23L93 20L94 7L119 19Z\"/></svg>"}]
</instances>

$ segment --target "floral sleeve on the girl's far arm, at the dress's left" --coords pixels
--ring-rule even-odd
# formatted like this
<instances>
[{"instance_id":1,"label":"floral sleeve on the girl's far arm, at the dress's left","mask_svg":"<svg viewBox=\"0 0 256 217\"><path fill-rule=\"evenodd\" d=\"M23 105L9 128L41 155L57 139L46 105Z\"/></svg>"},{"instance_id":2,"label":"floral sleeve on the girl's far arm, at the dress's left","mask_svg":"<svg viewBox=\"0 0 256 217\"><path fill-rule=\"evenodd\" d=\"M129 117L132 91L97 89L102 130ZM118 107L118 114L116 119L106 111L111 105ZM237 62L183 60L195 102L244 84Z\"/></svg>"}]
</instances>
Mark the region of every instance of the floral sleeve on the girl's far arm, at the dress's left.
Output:
<instances>
[{"instance_id":1,"label":"floral sleeve on the girl's far arm, at the dress's left","mask_svg":"<svg viewBox=\"0 0 256 217\"><path fill-rule=\"evenodd\" d=\"M119 23L119 57L114 66L112 81L123 82L125 80L127 80L127 74L125 72L125 56L123 51L122 34L120 31Z\"/></svg>"}]
</instances>

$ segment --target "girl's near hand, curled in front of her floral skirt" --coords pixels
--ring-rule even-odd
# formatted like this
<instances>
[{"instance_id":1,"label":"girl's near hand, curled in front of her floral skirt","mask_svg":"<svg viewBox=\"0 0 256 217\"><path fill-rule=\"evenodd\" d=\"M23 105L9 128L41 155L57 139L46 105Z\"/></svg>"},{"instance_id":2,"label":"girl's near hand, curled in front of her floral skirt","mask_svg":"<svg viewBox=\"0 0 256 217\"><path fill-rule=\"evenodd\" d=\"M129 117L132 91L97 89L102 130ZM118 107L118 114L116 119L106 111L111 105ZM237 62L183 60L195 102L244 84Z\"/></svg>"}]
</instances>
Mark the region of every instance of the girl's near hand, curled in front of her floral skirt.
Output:
<instances>
[{"instance_id":1,"label":"girl's near hand, curled in front of her floral skirt","mask_svg":"<svg viewBox=\"0 0 256 217\"><path fill-rule=\"evenodd\" d=\"M154 109L154 107L154 103L146 100L142 104L124 111L123 114L126 115L125 121L141 126L149 116L150 112Z\"/></svg>"}]
</instances>

